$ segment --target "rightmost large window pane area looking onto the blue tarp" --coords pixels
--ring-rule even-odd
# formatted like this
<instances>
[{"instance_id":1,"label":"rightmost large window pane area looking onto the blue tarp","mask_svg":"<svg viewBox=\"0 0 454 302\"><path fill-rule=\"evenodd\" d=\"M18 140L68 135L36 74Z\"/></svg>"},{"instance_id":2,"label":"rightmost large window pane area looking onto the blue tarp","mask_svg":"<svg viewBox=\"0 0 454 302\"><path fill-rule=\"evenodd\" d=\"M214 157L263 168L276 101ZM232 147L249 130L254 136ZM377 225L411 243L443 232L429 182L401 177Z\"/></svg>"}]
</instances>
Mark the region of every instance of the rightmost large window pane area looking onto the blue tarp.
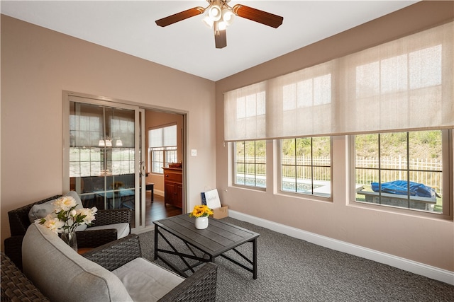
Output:
<instances>
[{"instance_id":1,"label":"rightmost large window pane area looking onto the blue tarp","mask_svg":"<svg viewBox=\"0 0 454 302\"><path fill-rule=\"evenodd\" d=\"M355 135L356 201L447 214L448 132Z\"/></svg>"}]
</instances>

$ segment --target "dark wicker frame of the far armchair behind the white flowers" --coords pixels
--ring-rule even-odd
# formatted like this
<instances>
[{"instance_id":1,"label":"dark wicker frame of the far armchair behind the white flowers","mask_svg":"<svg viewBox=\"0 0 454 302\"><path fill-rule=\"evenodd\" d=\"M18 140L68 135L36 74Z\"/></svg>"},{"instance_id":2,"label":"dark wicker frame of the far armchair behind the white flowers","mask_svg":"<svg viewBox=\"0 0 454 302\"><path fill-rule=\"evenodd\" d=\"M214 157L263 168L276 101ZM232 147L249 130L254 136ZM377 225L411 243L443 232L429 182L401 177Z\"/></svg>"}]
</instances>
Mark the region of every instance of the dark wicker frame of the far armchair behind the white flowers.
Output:
<instances>
[{"instance_id":1,"label":"dark wicker frame of the far armchair behind the white flowers","mask_svg":"<svg viewBox=\"0 0 454 302\"><path fill-rule=\"evenodd\" d=\"M55 195L8 212L11 237L6 238L4 241L5 254L17 265L17 267L19 267L19 269L22 269L22 239L28 226L31 224L28 219L28 212L34 204L43 204L61 196L62 195ZM98 210L96 219L91 226L106 226L114 223L129 223L131 226L131 220L131 209ZM116 239L117 231L114 228L77 232L77 246L79 248L96 248L99 245L109 243Z\"/></svg>"}]
</instances>

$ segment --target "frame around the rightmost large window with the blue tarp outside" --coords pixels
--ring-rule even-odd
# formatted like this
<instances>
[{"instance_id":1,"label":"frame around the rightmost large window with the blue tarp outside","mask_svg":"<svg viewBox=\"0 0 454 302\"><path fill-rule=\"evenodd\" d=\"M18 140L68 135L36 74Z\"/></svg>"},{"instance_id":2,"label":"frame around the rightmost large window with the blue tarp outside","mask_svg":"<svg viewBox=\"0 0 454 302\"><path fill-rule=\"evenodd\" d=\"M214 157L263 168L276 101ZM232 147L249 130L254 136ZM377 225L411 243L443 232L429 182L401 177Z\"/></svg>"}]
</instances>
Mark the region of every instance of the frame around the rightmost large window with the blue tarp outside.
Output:
<instances>
[{"instance_id":1,"label":"frame around the rightmost large window with the blue tarp outside","mask_svg":"<svg viewBox=\"0 0 454 302\"><path fill-rule=\"evenodd\" d=\"M425 216L435 219L449 219L453 220L453 139L454 129L433 129L441 130L442 134L442 158L443 158L443 210L441 213L422 211L418 209L410 209L404 207L394 207L386 204L373 204L368 202L361 202L356 200L356 151L355 151L355 134L348 136L348 148L349 148L349 174L350 174L350 206L364 207L378 211L390 211L399 214L408 214L412 216ZM413 130L413 131L424 131L424 130ZM395 130L393 132L413 132L411 130ZM380 132L384 134L387 132ZM408 143L408 141L406 142ZM407 169L409 169L407 167ZM380 170L379 170L380 173Z\"/></svg>"}]
</instances>

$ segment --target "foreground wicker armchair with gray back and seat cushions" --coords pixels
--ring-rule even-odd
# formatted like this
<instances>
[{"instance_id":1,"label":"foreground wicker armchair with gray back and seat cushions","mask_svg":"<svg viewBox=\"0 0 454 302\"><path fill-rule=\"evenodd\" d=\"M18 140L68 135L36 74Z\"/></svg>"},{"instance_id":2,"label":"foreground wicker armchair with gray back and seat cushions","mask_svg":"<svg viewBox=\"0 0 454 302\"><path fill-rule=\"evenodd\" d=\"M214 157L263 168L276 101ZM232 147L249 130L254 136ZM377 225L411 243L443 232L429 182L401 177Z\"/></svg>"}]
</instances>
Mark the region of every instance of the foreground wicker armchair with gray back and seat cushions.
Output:
<instances>
[{"instance_id":1,"label":"foreground wicker armchair with gray back and seat cushions","mask_svg":"<svg viewBox=\"0 0 454 302\"><path fill-rule=\"evenodd\" d=\"M2 274L1 301L4 298L23 301L18 298L22 295L21 289L31 289L31 286L39 289L33 292L34 296L37 292L43 295L31 301L46 301L45 298L100 302L215 301L216 298L216 265L208 262L184 279L140 257L136 235L107 243L82 256L55 233L33 223L23 238L22 247L23 275L30 284L7 283ZM16 288L11 288L13 286ZM6 296L6 292L10 296Z\"/></svg>"}]
</instances>

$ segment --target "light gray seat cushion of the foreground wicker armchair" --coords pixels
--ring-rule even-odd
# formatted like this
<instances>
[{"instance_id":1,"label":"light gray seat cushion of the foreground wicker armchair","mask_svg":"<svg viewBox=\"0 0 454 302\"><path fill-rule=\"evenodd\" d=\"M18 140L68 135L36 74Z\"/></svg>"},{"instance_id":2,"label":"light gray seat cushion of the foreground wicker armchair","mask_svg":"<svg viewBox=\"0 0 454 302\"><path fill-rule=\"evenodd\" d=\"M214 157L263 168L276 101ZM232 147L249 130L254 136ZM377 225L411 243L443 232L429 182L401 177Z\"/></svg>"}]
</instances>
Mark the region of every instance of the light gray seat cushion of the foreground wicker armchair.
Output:
<instances>
[{"instance_id":1,"label":"light gray seat cushion of the foreground wicker armchair","mask_svg":"<svg viewBox=\"0 0 454 302\"><path fill-rule=\"evenodd\" d=\"M113 272L134 301L157 301L184 281L177 274L144 258L135 258Z\"/></svg>"}]
</instances>

